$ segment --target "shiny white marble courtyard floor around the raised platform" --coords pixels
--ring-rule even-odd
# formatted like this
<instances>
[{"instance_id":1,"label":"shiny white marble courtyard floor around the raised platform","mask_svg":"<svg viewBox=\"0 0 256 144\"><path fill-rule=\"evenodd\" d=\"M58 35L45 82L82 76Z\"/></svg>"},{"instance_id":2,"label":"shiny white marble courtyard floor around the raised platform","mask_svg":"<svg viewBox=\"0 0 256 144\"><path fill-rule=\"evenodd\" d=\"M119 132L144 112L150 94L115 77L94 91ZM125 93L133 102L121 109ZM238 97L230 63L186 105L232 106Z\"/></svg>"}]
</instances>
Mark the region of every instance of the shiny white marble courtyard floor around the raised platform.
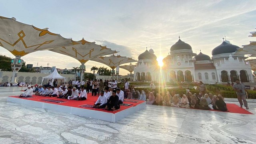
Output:
<instances>
[{"instance_id":1,"label":"shiny white marble courtyard floor around the raised platform","mask_svg":"<svg viewBox=\"0 0 256 144\"><path fill-rule=\"evenodd\" d=\"M256 143L256 103L253 114L147 105L112 123L7 102L20 90L0 87L0 144Z\"/></svg>"}]
</instances>

